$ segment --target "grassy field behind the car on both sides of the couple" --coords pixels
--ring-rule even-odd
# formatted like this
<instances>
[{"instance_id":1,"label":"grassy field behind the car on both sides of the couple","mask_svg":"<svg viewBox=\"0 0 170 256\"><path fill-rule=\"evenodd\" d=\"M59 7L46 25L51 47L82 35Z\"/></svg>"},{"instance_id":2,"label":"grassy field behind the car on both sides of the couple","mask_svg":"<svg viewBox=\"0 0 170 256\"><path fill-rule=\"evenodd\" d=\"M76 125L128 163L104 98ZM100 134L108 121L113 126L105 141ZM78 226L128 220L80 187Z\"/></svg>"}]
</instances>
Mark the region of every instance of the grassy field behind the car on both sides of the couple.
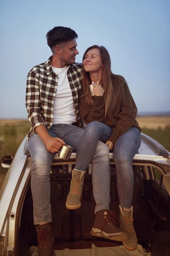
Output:
<instances>
[{"instance_id":1,"label":"grassy field behind the car on both sides of the couple","mask_svg":"<svg viewBox=\"0 0 170 256\"><path fill-rule=\"evenodd\" d=\"M170 116L138 116L136 119L143 133L170 151ZM0 157L14 155L29 129L30 123L26 119L0 119ZM0 167L0 187L7 170Z\"/></svg>"}]
</instances>

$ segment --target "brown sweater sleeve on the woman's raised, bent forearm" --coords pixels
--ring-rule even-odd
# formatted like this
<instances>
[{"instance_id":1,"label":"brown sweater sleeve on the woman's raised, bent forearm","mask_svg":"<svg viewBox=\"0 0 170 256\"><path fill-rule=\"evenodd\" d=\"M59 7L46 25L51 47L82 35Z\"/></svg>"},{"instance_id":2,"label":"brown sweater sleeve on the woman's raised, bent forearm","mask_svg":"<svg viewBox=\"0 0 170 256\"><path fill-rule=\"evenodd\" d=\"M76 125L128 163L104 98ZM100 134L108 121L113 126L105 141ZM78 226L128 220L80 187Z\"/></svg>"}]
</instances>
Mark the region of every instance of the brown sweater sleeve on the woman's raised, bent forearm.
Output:
<instances>
[{"instance_id":1,"label":"brown sweater sleeve on the woman's raised, bent forearm","mask_svg":"<svg viewBox=\"0 0 170 256\"><path fill-rule=\"evenodd\" d=\"M92 121L103 122L105 119L105 99L104 96L95 96L93 105L88 105L85 97L79 98L79 109L85 123Z\"/></svg>"}]
</instances>

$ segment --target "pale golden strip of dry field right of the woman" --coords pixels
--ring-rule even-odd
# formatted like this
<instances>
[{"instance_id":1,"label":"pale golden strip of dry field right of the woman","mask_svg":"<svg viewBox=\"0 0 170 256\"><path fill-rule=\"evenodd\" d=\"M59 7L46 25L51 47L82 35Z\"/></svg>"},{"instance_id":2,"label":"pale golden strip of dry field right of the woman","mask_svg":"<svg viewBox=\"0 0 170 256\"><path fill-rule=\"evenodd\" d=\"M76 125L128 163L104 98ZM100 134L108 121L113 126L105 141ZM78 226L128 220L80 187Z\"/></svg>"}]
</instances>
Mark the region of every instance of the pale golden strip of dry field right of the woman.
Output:
<instances>
[{"instance_id":1,"label":"pale golden strip of dry field right of the woman","mask_svg":"<svg viewBox=\"0 0 170 256\"><path fill-rule=\"evenodd\" d=\"M141 128L157 129L170 125L170 116L137 116L136 120Z\"/></svg>"}]
</instances>

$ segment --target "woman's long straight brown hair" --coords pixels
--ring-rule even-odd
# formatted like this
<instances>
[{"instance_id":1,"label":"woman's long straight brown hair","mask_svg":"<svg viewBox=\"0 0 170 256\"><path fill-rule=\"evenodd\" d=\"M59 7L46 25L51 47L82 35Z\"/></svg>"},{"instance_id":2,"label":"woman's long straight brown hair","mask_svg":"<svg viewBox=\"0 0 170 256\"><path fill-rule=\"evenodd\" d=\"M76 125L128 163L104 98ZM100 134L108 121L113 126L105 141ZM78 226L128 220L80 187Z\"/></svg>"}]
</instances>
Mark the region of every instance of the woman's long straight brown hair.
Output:
<instances>
[{"instance_id":1,"label":"woman's long straight brown hair","mask_svg":"<svg viewBox=\"0 0 170 256\"><path fill-rule=\"evenodd\" d=\"M99 49L100 56L102 59L102 64L103 64L102 81L100 81L100 82L103 84L103 88L105 90L104 98L105 98L105 117L106 117L106 115L108 113L109 106L115 104L117 96L118 96L118 93L117 93L117 96L115 96L113 93L113 85L112 85L111 77L115 76L115 75L111 72L111 58L108 53L108 50L103 46L93 45L93 46L89 47L85 51L82 61L84 61L86 53L89 50L94 49L94 48ZM83 68L81 95L85 97L87 104L92 105L93 99L91 97L91 93L89 90L90 84L91 84L90 74L88 72L86 72L85 69Z\"/></svg>"}]
</instances>

